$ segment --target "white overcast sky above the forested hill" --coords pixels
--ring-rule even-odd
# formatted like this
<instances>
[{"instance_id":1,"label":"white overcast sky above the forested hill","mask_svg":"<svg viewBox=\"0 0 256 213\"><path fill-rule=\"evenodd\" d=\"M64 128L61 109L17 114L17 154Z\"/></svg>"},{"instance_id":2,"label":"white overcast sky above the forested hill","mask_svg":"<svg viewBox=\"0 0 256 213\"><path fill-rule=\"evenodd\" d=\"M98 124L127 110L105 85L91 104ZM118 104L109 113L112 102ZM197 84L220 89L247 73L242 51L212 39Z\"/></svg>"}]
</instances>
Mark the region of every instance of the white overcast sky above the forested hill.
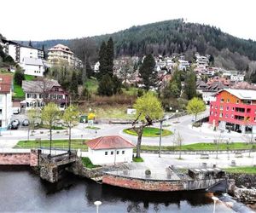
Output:
<instances>
[{"instance_id":1,"label":"white overcast sky above the forested hill","mask_svg":"<svg viewBox=\"0 0 256 213\"><path fill-rule=\"evenodd\" d=\"M74 38L183 18L256 40L253 0L8 0L0 33L14 40Z\"/></svg>"}]
</instances>

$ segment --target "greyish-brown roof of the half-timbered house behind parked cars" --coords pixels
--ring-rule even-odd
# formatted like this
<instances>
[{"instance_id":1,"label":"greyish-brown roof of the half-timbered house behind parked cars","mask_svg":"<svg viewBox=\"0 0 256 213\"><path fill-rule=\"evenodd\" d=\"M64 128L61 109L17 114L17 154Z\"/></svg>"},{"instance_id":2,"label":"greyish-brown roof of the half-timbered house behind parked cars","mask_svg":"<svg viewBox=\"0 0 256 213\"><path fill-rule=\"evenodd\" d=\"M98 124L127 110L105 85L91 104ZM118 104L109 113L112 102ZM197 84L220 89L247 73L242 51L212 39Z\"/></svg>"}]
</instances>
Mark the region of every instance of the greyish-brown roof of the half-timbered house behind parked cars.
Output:
<instances>
[{"instance_id":1,"label":"greyish-brown roof of the half-timbered house behind parked cars","mask_svg":"<svg viewBox=\"0 0 256 213\"><path fill-rule=\"evenodd\" d=\"M42 80L42 81L22 81L22 89L25 93L34 92L42 93L49 91L53 87L61 87L60 83L56 80Z\"/></svg>"}]
</instances>

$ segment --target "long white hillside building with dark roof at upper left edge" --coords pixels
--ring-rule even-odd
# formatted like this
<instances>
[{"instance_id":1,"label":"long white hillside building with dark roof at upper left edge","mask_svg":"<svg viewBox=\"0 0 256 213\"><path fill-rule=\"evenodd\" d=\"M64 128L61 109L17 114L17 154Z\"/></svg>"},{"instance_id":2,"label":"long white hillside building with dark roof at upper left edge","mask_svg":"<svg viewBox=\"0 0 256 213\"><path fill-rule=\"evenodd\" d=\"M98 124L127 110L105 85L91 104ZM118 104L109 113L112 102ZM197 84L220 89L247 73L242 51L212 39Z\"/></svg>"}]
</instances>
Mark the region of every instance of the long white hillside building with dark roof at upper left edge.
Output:
<instances>
[{"instance_id":1,"label":"long white hillside building with dark roof at upper left edge","mask_svg":"<svg viewBox=\"0 0 256 213\"><path fill-rule=\"evenodd\" d=\"M24 58L43 59L44 51L26 45L2 39L3 52L10 55L16 63L22 64Z\"/></svg>"}]
</instances>

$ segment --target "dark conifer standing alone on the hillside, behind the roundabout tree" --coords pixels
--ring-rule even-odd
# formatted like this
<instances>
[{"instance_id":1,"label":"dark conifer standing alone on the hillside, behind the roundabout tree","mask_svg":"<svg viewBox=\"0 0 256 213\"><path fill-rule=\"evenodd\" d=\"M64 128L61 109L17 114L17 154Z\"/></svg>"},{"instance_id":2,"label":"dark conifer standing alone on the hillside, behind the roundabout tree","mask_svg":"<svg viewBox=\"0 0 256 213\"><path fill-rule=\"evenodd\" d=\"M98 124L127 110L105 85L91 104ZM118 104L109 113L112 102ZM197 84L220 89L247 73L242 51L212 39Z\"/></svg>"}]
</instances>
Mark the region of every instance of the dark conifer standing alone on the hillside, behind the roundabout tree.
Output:
<instances>
[{"instance_id":1,"label":"dark conifer standing alone on the hillside, behind the roundabout tree","mask_svg":"<svg viewBox=\"0 0 256 213\"><path fill-rule=\"evenodd\" d=\"M139 69L140 77L143 78L143 84L146 90L155 87L157 72L154 71L155 61L153 55L147 55Z\"/></svg>"}]
</instances>

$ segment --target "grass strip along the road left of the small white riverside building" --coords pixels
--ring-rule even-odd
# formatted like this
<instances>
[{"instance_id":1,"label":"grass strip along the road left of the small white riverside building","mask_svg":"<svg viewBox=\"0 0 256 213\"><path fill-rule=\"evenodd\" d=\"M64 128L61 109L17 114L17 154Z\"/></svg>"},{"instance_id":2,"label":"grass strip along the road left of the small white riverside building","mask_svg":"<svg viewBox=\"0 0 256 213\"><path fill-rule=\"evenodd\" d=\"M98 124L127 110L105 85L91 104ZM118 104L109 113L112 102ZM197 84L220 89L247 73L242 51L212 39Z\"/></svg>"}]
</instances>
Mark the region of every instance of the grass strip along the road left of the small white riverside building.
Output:
<instances>
[{"instance_id":1,"label":"grass strip along the road left of the small white riverside building","mask_svg":"<svg viewBox=\"0 0 256 213\"><path fill-rule=\"evenodd\" d=\"M86 145L86 141L83 139L74 139L71 141L72 149L80 149L81 151L87 151L88 147ZM40 147L40 142L38 141L19 141L15 148L37 148ZM49 147L49 140L42 140L41 147ZM53 148L68 148L68 140L53 140L52 141Z\"/></svg>"}]
</instances>

